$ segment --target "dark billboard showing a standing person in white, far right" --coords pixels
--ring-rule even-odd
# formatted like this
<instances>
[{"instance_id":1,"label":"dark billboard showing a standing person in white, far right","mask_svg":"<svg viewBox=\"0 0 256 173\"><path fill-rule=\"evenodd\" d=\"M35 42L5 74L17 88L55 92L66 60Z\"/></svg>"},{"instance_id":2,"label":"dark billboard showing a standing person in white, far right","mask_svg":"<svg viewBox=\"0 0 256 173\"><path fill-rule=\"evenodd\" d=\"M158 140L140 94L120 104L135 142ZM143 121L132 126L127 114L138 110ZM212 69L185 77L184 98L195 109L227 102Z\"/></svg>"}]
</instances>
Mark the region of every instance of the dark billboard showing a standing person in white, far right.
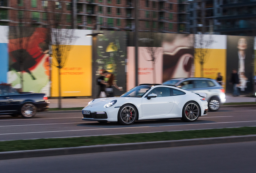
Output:
<instances>
[{"instance_id":1,"label":"dark billboard showing a standing person in white, far right","mask_svg":"<svg viewBox=\"0 0 256 173\"><path fill-rule=\"evenodd\" d=\"M232 69L236 69L241 93L253 91L253 61L254 37L227 36L227 83L231 81ZM233 85L227 84L227 93L232 91Z\"/></svg>"}]
</instances>

